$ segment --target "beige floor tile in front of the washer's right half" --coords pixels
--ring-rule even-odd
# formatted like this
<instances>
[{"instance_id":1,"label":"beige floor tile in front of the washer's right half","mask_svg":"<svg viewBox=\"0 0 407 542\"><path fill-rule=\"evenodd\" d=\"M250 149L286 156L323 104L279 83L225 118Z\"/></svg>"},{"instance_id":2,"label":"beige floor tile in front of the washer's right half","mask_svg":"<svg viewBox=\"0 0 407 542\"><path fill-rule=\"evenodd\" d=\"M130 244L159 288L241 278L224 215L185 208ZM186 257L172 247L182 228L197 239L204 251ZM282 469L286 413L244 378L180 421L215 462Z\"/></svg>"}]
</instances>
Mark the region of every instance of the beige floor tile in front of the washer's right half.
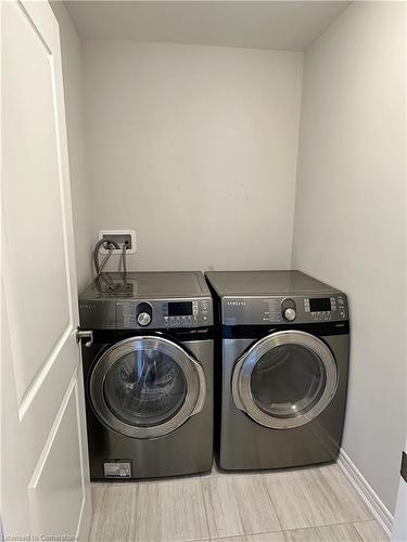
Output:
<instances>
[{"instance_id":1,"label":"beige floor tile in front of the washer's right half","mask_svg":"<svg viewBox=\"0 0 407 542\"><path fill-rule=\"evenodd\" d=\"M199 476L139 483L132 542L175 542L209 537Z\"/></svg>"}]
</instances>

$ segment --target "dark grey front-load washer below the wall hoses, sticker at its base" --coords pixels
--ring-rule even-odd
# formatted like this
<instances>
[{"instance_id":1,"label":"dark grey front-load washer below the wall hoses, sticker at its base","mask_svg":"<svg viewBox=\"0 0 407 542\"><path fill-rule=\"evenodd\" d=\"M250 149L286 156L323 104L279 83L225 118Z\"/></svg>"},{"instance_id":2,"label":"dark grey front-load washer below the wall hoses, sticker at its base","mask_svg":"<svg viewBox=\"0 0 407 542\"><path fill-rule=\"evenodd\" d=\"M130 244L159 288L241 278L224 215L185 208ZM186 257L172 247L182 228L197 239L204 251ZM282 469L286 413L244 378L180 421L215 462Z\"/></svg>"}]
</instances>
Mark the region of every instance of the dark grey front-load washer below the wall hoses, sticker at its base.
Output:
<instances>
[{"instance_id":1,"label":"dark grey front-load washer below the wall hoses, sticker at its base","mask_svg":"<svg viewBox=\"0 0 407 542\"><path fill-rule=\"evenodd\" d=\"M213 302L199 272L102 273L80 296L92 479L213 462Z\"/></svg>"}]
</instances>

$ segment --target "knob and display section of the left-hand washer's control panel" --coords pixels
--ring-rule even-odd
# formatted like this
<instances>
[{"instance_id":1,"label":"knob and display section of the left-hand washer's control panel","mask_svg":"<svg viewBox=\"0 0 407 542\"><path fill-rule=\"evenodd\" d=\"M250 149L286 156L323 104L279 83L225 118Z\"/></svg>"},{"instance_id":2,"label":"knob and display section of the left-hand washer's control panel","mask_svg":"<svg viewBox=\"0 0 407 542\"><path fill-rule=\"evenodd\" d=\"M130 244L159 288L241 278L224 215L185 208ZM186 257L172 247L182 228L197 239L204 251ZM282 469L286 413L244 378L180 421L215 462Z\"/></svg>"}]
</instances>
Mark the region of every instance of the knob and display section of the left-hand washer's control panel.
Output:
<instances>
[{"instance_id":1,"label":"knob and display section of the left-hand washer's control panel","mask_svg":"<svg viewBox=\"0 0 407 542\"><path fill-rule=\"evenodd\" d=\"M174 328L213 325L211 298L116 301L115 328Z\"/></svg>"}]
</instances>

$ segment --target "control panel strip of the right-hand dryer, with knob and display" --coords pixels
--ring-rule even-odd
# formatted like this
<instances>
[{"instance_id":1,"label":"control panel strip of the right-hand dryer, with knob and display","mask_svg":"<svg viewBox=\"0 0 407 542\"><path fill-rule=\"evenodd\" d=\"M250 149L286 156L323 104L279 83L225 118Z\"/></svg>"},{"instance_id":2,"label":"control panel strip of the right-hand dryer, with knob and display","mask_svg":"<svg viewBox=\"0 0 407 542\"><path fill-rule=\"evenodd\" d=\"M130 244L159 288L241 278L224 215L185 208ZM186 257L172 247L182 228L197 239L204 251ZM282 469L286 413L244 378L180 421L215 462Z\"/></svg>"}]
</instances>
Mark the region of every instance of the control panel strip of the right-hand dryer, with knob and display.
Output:
<instances>
[{"instance_id":1,"label":"control panel strip of the right-hand dryer, with knob and display","mask_svg":"<svg viewBox=\"0 0 407 542\"><path fill-rule=\"evenodd\" d=\"M225 325L306 324L348 320L346 295L341 292L302 296L224 297Z\"/></svg>"}]
</instances>

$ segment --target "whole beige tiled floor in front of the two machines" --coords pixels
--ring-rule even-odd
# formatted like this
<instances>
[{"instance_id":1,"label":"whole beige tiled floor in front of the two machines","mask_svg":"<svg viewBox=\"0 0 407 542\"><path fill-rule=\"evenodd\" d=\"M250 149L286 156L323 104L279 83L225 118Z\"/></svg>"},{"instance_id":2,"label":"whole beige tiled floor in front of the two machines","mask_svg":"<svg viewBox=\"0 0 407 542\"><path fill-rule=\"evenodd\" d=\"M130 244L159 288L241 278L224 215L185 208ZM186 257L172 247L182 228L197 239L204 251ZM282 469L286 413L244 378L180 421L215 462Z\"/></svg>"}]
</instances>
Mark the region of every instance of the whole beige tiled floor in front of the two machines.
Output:
<instances>
[{"instance_id":1,"label":"whole beige tiled floor in front of the two machines","mask_svg":"<svg viewBox=\"0 0 407 542\"><path fill-rule=\"evenodd\" d=\"M338 465L93 483L91 542L381 542Z\"/></svg>"}]
</instances>

